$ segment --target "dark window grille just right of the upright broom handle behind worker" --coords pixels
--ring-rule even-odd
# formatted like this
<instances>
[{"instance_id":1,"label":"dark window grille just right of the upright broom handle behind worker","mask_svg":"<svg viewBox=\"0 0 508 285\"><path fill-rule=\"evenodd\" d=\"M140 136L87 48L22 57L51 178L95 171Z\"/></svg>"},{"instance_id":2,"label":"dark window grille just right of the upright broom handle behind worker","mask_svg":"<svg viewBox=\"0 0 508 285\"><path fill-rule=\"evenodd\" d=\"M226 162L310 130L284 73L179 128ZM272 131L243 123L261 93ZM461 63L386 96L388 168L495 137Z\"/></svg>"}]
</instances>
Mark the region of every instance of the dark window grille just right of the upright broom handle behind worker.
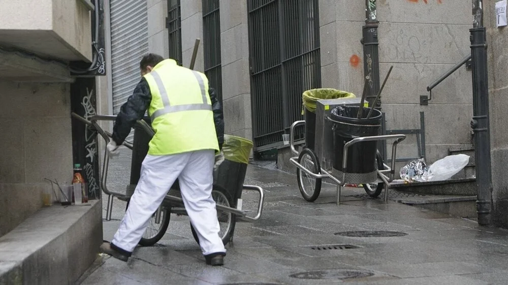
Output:
<instances>
[{"instance_id":1,"label":"dark window grille just right of the upright broom handle behind worker","mask_svg":"<svg viewBox=\"0 0 508 285\"><path fill-rule=\"evenodd\" d=\"M222 104L219 0L203 0L203 38L205 75Z\"/></svg>"}]
</instances>

